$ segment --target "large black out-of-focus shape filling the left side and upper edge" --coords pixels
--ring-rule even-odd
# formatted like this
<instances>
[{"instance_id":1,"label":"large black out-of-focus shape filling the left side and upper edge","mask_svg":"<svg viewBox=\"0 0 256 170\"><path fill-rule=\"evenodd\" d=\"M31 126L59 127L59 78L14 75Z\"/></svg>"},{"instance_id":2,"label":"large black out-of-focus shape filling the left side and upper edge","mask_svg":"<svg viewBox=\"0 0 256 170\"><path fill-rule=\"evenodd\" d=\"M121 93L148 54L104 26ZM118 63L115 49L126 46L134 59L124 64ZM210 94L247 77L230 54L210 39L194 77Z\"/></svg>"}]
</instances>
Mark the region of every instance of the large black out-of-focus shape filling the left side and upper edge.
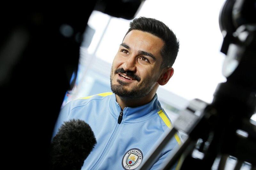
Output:
<instances>
[{"instance_id":1,"label":"large black out-of-focus shape filling the left side and upper edge","mask_svg":"<svg viewBox=\"0 0 256 170\"><path fill-rule=\"evenodd\" d=\"M1 6L1 106L2 120L8 120L5 125L9 125L1 127L6 146L4 166L49 168L52 130L65 93L73 88L69 81L76 76L82 35L96 2L37 1ZM124 3L110 4L114 2ZM125 1L135 2L141 4ZM108 5L105 1L97 5L101 3ZM132 12L139 5L120 17L134 16ZM124 11L131 7L121 6Z\"/></svg>"}]
</instances>

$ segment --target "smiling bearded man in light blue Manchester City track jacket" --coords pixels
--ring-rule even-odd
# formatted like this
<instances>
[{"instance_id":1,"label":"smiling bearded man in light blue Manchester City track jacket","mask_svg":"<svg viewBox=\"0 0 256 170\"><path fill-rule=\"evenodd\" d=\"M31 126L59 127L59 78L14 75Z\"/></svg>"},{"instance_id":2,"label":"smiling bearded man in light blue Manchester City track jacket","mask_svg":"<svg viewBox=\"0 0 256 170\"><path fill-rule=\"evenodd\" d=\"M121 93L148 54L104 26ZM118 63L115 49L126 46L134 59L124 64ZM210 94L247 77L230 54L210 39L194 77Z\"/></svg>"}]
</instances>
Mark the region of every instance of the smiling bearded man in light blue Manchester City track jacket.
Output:
<instances>
[{"instance_id":1,"label":"smiling bearded man in light blue Manchester City track jacket","mask_svg":"<svg viewBox=\"0 0 256 170\"><path fill-rule=\"evenodd\" d=\"M97 144L82 169L139 168L171 122L157 100L156 90L173 75L179 50L175 34L153 18L136 18L114 58L111 92L69 102L60 112L53 135L64 121L82 119ZM158 169L180 143L175 136L151 169ZM145 161L145 160L144 160ZM175 168L175 167L174 167Z\"/></svg>"}]
</instances>

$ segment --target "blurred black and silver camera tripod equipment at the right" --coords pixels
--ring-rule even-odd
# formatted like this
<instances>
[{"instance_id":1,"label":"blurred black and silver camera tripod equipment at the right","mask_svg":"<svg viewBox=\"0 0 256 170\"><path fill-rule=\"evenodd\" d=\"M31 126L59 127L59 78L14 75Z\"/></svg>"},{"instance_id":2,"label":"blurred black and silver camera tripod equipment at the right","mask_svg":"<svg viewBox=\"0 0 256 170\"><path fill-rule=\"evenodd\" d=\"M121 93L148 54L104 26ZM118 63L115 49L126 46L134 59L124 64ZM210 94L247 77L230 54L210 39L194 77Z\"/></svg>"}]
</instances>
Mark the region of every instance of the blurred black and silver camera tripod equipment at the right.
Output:
<instances>
[{"instance_id":1,"label":"blurred black and silver camera tripod equipment at the right","mask_svg":"<svg viewBox=\"0 0 256 170\"><path fill-rule=\"evenodd\" d=\"M236 159L235 170L244 164L256 169L256 124L250 120L256 109L255 16L255 0L225 2L219 23L224 36L221 52L227 55L222 70L227 82L218 85L211 104L198 99L190 102L141 170L150 167L154 155L177 130L188 138L172 152L164 170L179 158L178 169L222 170L230 157Z\"/></svg>"}]
</instances>

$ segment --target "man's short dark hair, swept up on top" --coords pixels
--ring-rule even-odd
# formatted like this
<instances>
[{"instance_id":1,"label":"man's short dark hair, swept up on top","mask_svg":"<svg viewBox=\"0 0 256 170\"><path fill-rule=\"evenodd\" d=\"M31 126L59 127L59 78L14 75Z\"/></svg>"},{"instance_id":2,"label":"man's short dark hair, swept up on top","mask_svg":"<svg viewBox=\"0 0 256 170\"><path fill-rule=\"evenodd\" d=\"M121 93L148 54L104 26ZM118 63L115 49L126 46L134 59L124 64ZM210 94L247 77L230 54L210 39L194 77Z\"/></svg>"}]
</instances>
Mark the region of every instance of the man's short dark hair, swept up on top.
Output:
<instances>
[{"instance_id":1,"label":"man's short dark hair, swept up on top","mask_svg":"<svg viewBox=\"0 0 256 170\"><path fill-rule=\"evenodd\" d=\"M163 57L161 68L172 67L178 55L179 41L168 26L154 18L140 17L130 22L130 28L125 36L132 30L148 32L161 38L164 41L164 47L161 50Z\"/></svg>"}]
</instances>

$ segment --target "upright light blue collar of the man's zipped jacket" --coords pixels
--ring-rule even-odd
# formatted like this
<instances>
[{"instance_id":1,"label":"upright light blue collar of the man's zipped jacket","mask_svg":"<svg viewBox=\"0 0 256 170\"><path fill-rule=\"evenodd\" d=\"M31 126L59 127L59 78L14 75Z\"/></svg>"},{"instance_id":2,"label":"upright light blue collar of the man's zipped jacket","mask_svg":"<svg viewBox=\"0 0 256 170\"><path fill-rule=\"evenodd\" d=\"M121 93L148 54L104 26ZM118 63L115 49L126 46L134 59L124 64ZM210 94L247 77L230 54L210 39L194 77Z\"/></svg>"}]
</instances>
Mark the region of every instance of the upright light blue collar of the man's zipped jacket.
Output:
<instances>
[{"instance_id":1,"label":"upright light blue collar of the man's zipped jacket","mask_svg":"<svg viewBox=\"0 0 256 170\"><path fill-rule=\"evenodd\" d=\"M121 112L121 107L116 102L116 95L113 93L109 100L109 108L113 117L118 120L118 116ZM157 94L153 99L142 106L138 107L124 107L122 122L142 122L152 118L152 115L157 115L157 112L161 110L160 102L157 100Z\"/></svg>"}]
</instances>

